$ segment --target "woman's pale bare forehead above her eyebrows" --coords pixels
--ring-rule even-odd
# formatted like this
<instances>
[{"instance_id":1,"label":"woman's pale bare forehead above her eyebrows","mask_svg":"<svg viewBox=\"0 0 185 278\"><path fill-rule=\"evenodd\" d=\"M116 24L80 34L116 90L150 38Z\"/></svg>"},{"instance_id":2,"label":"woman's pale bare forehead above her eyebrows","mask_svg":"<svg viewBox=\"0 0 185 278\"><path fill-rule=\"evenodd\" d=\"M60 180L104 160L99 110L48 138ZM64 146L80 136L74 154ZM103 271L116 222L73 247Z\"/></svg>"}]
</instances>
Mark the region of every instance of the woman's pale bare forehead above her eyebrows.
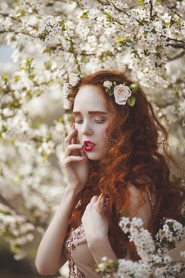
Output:
<instances>
[{"instance_id":1,"label":"woman's pale bare forehead above her eyebrows","mask_svg":"<svg viewBox=\"0 0 185 278\"><path fill-rule=\"evenodd\" d=\"M92 85L82 86L74 100L74 111L99 110L108 112L104 98L98 87Z\"/></svg>"}]
</instances>

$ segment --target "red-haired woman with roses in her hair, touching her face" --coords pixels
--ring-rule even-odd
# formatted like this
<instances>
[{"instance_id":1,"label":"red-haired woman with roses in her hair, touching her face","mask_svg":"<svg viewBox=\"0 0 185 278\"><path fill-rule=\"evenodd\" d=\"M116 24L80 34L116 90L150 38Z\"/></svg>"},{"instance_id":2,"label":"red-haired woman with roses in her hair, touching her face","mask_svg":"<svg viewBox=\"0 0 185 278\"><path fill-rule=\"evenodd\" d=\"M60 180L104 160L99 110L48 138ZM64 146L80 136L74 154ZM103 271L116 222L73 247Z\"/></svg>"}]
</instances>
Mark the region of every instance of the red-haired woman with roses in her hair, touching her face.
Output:
<instances>
[{"instance_id":1,"label":"red-haired woman with roses in her hair, touching her face","mask_svg":"<svg viewBox=\"0 0 185 278\"><path fill-rule=\"evenodd\" d=\"M69 277L99 277L94 264L104 256L139 259L118 226L120 210L141 217L153 237L164 216L180 220L185 190L169 180L167 160L183 178L184 169L145 93L124 73L71 74L64 91L64 107L72 112L62 161L68 185L35 265L52 275L69 260Z\"/></svg>"}]
</instances>

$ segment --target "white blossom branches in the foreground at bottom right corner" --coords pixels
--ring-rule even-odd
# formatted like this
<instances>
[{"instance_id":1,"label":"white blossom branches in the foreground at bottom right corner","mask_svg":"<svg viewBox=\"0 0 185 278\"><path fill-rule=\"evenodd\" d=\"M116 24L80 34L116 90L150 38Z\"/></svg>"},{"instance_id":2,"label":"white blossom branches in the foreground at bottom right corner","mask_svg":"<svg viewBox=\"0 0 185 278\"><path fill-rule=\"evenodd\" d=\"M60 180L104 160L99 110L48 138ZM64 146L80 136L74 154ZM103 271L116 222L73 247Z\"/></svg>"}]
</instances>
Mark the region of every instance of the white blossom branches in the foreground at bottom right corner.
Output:
<instances>
[{"instance_id":1,"label":"white blossom branches in the foreground at bottom right corner","mask_svg":"<svg viewBox=\"0 0 185 278\"><path fill-rule=\"evenodd\" d=\"M122 212L122 215L125 215ZM154 241L148 230L142 227L141 218L122 216L119 222L121 230L128 235L130 242L134 242L140 260L118 259L117 261L107 260L103 257L99 264L96 264L96 272L100 276L110 277L137 277L149 278L152 274L158 277L179 277L185 271L183 261L173 261L169 250L174 249L179 242L184 241L185 226L173 219L161 221L162 228L156 234ZM180 255L185 257L185 252Z\"/></svg>"}]
</instances>

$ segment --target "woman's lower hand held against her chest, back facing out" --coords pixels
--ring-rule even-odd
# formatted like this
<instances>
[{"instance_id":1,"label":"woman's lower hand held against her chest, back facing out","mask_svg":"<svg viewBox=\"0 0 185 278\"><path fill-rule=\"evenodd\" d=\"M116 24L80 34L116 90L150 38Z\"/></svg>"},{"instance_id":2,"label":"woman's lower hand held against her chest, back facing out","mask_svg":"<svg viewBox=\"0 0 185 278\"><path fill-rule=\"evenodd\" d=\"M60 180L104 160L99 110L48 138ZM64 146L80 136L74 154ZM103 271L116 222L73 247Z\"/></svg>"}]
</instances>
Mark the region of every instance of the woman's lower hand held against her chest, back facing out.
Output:
<instances>
[{"instance_id":1,"label":"woman's lower hand held against her chest, back facing out","mask_svg":"<svg viewBox=\"0 0 185 278\"><path fill-rule=\"evenodd\" d=\"M81 219L89 249L91 246L98 244L103 238L107 237L109 230L109 221L106 218L106 208L103 210L105 196L102 198L101 196L102 193L99 197L92 197L90 203L86 206ZM105 214L105 218L100 214L99 203L102 213Z\"/></svg>"}]
</instances>

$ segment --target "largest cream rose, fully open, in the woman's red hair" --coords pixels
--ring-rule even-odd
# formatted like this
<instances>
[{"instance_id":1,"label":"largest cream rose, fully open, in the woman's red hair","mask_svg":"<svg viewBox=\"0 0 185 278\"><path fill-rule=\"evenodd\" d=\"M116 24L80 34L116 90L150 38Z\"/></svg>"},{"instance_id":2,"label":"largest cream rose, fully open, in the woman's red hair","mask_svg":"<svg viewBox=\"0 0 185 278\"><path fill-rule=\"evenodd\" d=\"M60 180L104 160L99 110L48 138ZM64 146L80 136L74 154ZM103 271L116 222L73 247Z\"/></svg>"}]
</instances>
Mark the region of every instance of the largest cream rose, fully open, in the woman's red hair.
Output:
<instances>
[{"instance_id":1,"label":"largest cream rose, fully open, in the woman's red hair","mask_svg":"<svg viewBox=\"0 0 185 278\"><path fill-rule=\"evenodd\" d=\"M128 86L125 85L117 85L114 88L114 97L115 97L115 102L118 104L122 104L125 105L128 97L131 96L131 91L130 88Z\"/></svg>"}]
</instances>

